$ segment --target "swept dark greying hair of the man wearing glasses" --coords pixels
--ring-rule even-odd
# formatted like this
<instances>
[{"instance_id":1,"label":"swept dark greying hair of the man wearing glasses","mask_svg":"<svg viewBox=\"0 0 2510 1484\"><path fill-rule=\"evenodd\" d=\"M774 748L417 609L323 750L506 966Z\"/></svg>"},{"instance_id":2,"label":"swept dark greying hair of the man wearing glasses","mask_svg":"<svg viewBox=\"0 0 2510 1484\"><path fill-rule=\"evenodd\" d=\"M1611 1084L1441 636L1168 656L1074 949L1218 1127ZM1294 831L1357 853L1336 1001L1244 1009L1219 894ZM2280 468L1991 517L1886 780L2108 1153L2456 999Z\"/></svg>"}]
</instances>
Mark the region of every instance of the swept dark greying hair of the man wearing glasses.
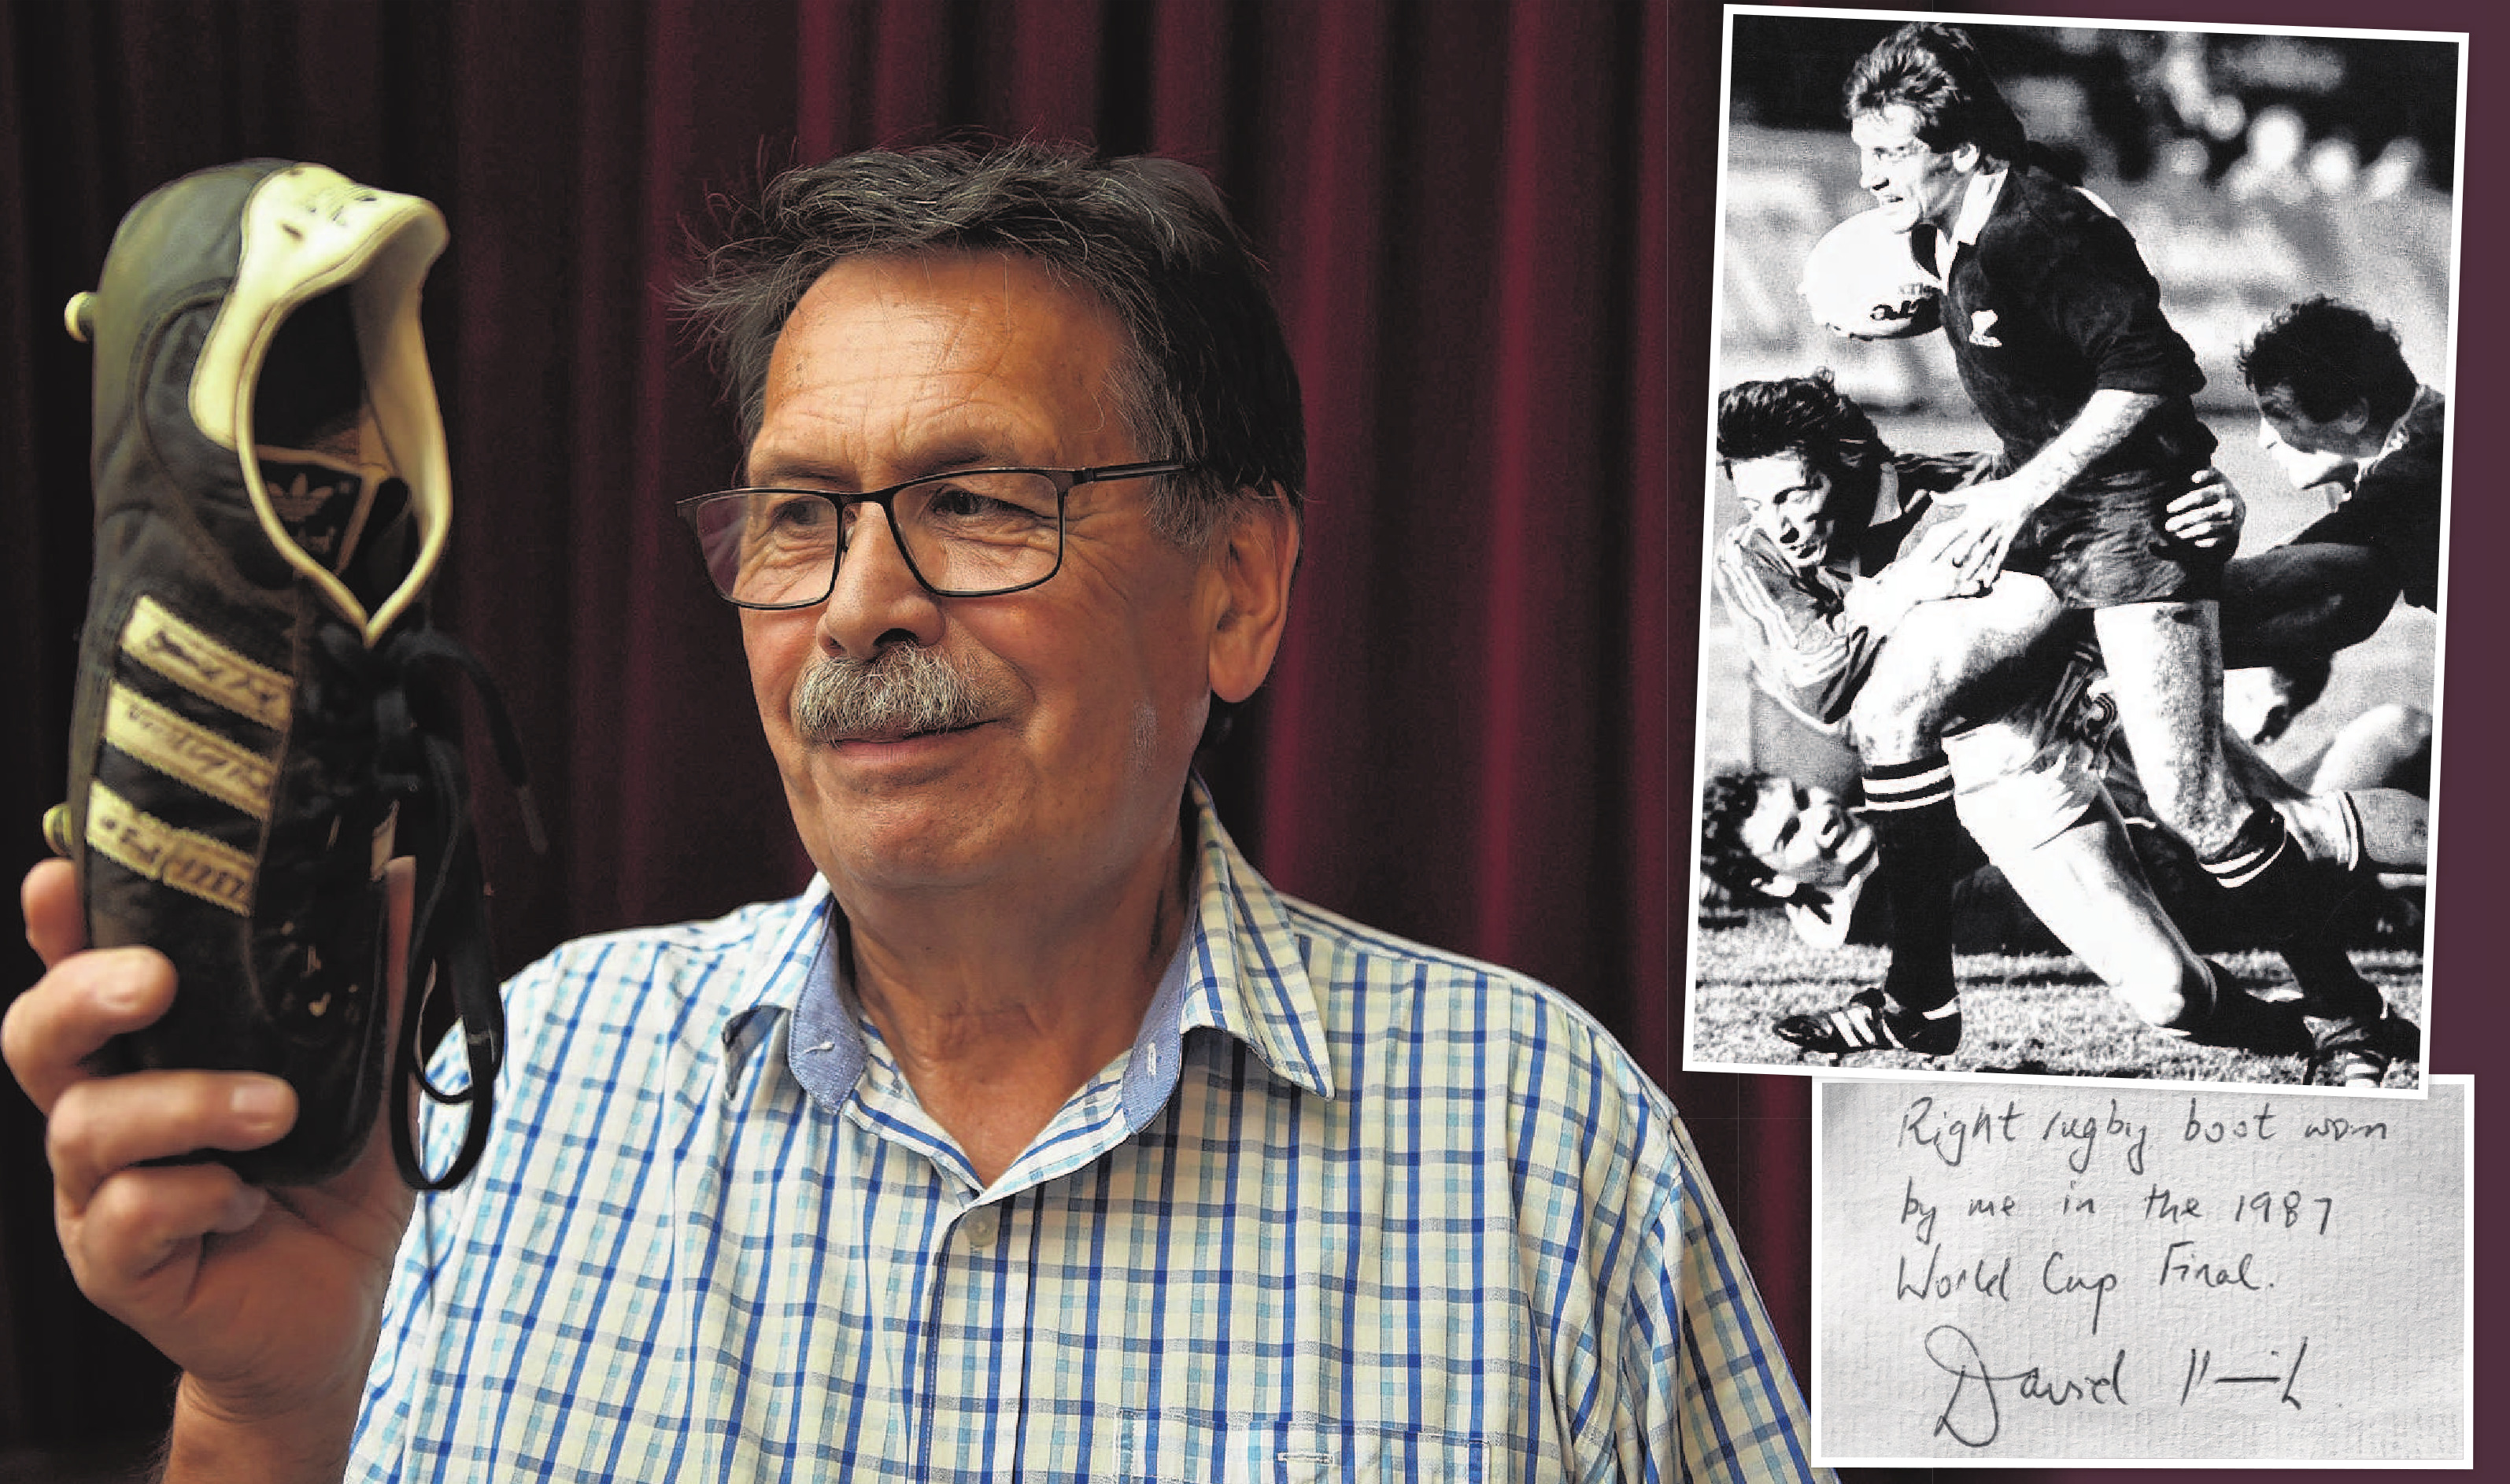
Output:
<instances>
[{"instance_id":1,"label":"swept dark greying hair of the man wearing glasses","mask_svg":"<svg viewBox=\"0 0 2510 1484\"><path fill-rule=\"evenodd\" d=\"M863 151L720 201L715 226L720 246L678 304L715 357L743 447L766 412L776 336L828 266L999 251L1037 261L1122 324L1130 354L1109 392L1140 457L1195 465L1155 487L1162 537L1200 552L1242 500L1300 510L1308 444L1290 344L1220 191L1182 161L1032 141Z\"/></svg>"}]
</instances>

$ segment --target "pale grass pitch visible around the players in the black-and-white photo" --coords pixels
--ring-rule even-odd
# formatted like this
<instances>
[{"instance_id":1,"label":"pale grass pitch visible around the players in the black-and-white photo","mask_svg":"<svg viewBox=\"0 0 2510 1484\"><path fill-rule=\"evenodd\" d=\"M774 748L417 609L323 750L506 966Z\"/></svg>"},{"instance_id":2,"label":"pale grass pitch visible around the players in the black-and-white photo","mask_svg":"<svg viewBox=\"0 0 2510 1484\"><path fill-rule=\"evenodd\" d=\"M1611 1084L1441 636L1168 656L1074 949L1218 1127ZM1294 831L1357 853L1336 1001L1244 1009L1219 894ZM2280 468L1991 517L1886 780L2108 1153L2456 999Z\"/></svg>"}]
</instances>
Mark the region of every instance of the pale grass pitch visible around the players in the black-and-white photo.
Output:
<instances>
[{"instance_id":1,"label":"pale grass pitch visible around the players in the black-and-white photo","mask_svg":"<svg viewBox=\"0 0 2510 1484\"><path fill-rule=\"evenodd\" d=\"M1955 449L1975 447L1985 434L1970 419L1880 417L1882 437L1895 447ZM2216 462L2249 500L2249 525L2241 550L2259 550L2289 537L2324 505L2299 495L2259 454L2254 419L2214 417L2221 452ZM1722 530L1739 515L1732 492L1717 482L1712 520ZM2324 701L2302 716L2292 736L2267 748L2267 761L2312 756L2337 723L2379 701L2405 701L2437 713L2435 658L2440 628L2430 613L2402 603L2387 625L2367 643L2337 655ZM1749 763L1749 708L1742 645L1734 643L1722 603L1712 603L1699 645L1699 751L1702 768ZM2437 768L2435 768L2437 776ZM2437 831L2437 814L2435 814ZM1825 1070L1830 1057L1800 1057L1775 1035L1780 1014L1825 1009L1847 994L1882 979L1880 949L1807 949L1777 911L1699 914L1694 932L1692 1042L1689 1067L1795 1067ZM2224 954L2221 962L2244 982L2289 984L2282 959L2272 954ZM2387 994L2402 1014L2422 1019L2422 954L2410 949L2357 952L2354 964ZM2201 1082L2299 1082L2299 1057L2251 1057L2214 1047L2191 1047L2164 1037L2111 999L2083 964L2066 954L2008 957L1963 954L1963 1045L1935 1062L1913 1055L1855 1057L1855 1070L1948 1070L2068 1077L2161 1077ZM2400 1065L2390 1085L2420 1077L2420 1067Z\"/></svg>"}]
</instances>

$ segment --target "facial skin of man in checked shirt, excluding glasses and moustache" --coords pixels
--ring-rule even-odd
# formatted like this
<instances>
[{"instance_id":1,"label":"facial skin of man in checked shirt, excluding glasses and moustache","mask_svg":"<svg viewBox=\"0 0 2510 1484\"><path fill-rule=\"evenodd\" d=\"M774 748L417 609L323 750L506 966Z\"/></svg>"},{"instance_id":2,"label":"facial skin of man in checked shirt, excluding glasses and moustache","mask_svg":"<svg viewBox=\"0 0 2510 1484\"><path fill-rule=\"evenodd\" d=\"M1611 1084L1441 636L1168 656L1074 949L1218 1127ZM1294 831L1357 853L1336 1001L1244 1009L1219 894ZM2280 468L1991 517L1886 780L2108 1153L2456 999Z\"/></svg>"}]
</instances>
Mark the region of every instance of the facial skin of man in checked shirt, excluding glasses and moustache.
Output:
<instances>
[{"instance_id":1,"label":"facial skin of man in checked shirt, excluding glasses and moustache","mask_svg":"<svg viewBox=\"0 0 2510 1484\"><path fill-rule=\"evenodd\" d=\"M776 341L748 482L858 492L1135 462L1109 394L1119 349L1099 304L1027 259L841 261ZM1210 562L1152 532L1150 490L1077 485L1062 570L999 598L934 598L861 507L823 605L743 610L768 746L841 899L1019 881L1087 894L1172 869L1227 598ZM911 648L964 680L966 726L843 733L796 711L816 665Z\"/></svg>"}]
</instances>

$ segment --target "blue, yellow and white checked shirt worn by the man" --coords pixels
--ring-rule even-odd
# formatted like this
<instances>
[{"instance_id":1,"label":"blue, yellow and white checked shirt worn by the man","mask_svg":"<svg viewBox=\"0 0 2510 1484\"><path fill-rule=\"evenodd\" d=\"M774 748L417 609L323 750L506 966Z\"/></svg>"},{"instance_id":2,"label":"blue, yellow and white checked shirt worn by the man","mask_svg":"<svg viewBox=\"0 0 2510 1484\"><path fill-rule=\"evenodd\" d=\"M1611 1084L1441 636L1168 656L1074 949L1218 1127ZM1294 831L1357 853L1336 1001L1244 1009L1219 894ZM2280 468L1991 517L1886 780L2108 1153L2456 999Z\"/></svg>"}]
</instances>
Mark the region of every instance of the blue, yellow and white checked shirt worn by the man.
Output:
<instances>
[{"instance_id":1,"label":"blue, yellow and white checked shirt worn by the man","mask_svg":"<svg viewBox=\"0 0 2510 1484\"><path fill-rule=\"evenodd\" d=\"M1195 814L1140 1040L989 1188L846 989L826 884L520 974L349 1476L1812 1474L1629 1057L1551 989L1275 894ZM442 1163L459 1112L427 1135Z\"/></svg>"}]
</instances>

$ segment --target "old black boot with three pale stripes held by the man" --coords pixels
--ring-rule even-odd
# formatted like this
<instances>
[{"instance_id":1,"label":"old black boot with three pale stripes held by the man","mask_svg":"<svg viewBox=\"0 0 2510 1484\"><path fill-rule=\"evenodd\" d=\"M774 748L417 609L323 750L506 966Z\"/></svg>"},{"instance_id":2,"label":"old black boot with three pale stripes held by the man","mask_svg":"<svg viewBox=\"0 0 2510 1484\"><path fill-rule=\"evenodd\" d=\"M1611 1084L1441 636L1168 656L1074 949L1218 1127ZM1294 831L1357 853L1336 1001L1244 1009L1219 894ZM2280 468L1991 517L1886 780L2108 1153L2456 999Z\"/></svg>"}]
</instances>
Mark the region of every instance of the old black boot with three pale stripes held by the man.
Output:
<instances>
[{"instance_id":1,"label":"old black boot with three pale stripes held by the man","mask_svg":"<svg viewBox=\"0 0 2510 1484\"><path fill-rule=\"evenodd\" d=\"M88 942L176 964L133 1067L259 1070L289 1135L208 1150L248 1180L346 1168L397 1082L404 1180L457 1183L487 1132L505 1024L469 839L459 713L482 683L427 628L452 497L419 289L444 218L321 166L246 161L158 188L70 301L95 347L95 575L70 796L45 821L80 871ZM387 1072L384 864L419 856L407 1024ZM452 992L472 1102L444 1175L409 1148L422 987Z\"/></svg>"}]
</instances>

